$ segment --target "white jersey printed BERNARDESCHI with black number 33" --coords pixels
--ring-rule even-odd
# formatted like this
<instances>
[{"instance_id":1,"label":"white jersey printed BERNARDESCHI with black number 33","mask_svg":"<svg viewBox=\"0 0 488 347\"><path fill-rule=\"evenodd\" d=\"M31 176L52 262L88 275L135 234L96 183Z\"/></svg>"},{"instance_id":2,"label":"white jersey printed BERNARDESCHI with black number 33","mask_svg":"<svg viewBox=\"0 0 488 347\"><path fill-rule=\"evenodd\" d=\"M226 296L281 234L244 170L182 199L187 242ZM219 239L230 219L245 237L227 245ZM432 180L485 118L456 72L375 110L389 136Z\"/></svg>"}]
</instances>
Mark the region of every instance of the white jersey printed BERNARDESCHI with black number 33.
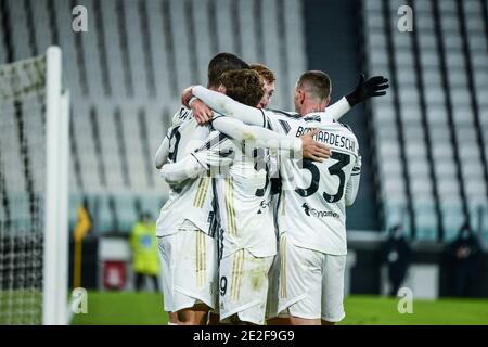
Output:
<instances>
[{"instance_id":1,"label":"white jersey printed BERNARDESCHI with black number 33","mask_svg":"<svg viewBox=\"0 0 488 347\"><path fill-rule=\"evenodd\" d=\"M301 158L280 159L282 192L277 221L280 233L298 246L331 255L346 255L346 187L360 174L358 140L345 125L313 113L265 112L267 126L292 137L318 128L314 140L332 150L322 163Z\"/></svg>"}]
</instances>

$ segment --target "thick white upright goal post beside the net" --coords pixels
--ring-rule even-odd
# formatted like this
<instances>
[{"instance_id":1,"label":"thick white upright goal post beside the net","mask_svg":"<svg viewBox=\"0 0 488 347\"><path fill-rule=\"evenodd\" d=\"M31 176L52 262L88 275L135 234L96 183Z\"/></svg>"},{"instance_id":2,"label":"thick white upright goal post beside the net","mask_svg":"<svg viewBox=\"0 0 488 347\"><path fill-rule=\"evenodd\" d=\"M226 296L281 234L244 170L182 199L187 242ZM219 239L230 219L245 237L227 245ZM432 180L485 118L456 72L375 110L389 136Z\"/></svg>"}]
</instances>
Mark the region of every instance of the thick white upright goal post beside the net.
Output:
<instances>
[{"instance_id":1,"label":"thick white upright goal post beside the net","mask_svg":"<svg viewBox=\"0 0 488 347\"><path fill-rule=\"evenodd\" d=\"M42 323L67 324L69 94L62 88L62 52L46 54L46 197Z\"/></svg>"}]
</instances>

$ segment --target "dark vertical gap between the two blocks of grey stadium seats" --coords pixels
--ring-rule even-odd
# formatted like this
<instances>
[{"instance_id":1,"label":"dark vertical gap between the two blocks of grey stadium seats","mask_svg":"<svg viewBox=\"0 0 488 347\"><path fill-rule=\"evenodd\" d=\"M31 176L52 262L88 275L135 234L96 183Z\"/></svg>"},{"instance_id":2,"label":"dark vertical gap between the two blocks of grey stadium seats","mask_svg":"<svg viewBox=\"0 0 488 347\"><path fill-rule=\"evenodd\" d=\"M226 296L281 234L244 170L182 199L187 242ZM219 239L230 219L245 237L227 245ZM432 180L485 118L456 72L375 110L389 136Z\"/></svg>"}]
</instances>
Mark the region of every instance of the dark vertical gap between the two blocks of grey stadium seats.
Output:
<instances>
[{"instance_id":1,"label":"dark vertical gap between the two blocks of grey stadium seats","mask_svg":"<svg viewBox=\"0 0 488 347\"><path fill-rule=\"evenodd\" d=\"M359 1L304 2L307 68L321 69L330 75L332 102L350 92L361 73L358 8ZM320 41L312 41L318 37ZM356 68L351 69L351 66ZM341 120L352 128L362 155L361 187L356 203L347 209L347 228L380 230L380 204L375 193L377 179L372 167L367 117L363 106L359 105Z\"/></svg>"}]
</instances>

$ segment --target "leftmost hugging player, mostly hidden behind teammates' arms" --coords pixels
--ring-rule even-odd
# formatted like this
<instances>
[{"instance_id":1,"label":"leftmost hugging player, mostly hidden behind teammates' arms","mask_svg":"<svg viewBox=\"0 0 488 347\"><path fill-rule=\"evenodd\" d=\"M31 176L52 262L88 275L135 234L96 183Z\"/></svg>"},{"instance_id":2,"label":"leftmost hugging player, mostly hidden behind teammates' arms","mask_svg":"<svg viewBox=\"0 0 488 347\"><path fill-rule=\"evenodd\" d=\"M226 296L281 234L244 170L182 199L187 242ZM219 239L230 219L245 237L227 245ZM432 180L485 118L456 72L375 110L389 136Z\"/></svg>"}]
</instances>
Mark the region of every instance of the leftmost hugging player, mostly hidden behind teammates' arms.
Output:
<instances>
[{"instance_id":1,"label":"leftmost hugging player, mostly hidden behind teammates' arms","mask_svg":"<svg viewBox=\"0 0 488 347\"><path fill-rule=\"evenodd\" d=\"M208 88L218 88L223 72L242 68L248 65L237 56L217 54L208 65ZM192 104L193 110L205 113L207 107L198 103ZM156 153L156 167L160 168L167 160L180 160L198 147L209 131L208 126L195 121L193 111L181 107ZM208 309L216 305L217 255L210 231L211 200L208 178L174 187L157 219L164 306L174 324L205 324Z\"/></svg>"}]
</instances>

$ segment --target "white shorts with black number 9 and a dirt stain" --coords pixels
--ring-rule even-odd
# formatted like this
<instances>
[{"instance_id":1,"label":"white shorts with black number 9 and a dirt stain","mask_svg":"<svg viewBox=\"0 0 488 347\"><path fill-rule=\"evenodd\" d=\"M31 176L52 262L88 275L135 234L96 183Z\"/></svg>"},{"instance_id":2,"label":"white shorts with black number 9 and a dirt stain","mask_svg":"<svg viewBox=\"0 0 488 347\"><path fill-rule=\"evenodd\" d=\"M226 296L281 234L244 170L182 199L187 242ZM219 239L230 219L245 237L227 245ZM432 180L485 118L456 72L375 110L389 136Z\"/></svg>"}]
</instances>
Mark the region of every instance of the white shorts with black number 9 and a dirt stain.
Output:
<instances>
[{"instance_id":1,"label":"white shorts with black number 9 and a dirt stain","mask_svg":"<svg viewBox=\"0 0 488 347\"><path fill-rule=\"evenodd\" d=\"M273 258L258 258L240 249L220 260L220 321L227 322L227 318L236 313L243 322L264 324Z\"/></svg>"}]
</instances>

